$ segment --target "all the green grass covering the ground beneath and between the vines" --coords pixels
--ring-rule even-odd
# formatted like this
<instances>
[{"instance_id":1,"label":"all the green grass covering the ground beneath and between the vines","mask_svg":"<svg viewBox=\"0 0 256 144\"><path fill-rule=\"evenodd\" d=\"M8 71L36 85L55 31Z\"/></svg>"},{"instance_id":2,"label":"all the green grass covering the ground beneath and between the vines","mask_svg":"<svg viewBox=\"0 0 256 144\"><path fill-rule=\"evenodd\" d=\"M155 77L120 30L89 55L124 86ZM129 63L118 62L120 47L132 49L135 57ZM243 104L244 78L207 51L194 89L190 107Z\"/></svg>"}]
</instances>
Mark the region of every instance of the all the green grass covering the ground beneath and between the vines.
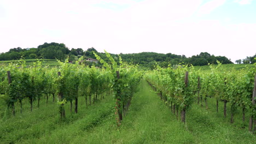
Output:
<instances>
[{"instance_id":1,"label":"all the green grass covering the ground beneath and between the vines","mask_svg":"<svg viewBox=\"0 0 256 144\"><path fill-rule=\"evenodd\" d=\"M217 113L214 99L208 99L210 108L207 110L194 104L187 112L187 124L184 125L145 80L120 127L115 122L113 97L98 100L88 109L84 98L79 98L77 114L69 112L68 103L65 121L60 120L56 102L46 105L44 100L40 109L34 106L33 112L29 111L28 100L24 101L24 113L0 119L0 143L247 144L256 141L255 134L248 132L248 122L243 124L240 110L235 115L235 123L230 124L229 110L228 117L223 118L223 105L219 104Z\"/></svg>"}]
</instances>

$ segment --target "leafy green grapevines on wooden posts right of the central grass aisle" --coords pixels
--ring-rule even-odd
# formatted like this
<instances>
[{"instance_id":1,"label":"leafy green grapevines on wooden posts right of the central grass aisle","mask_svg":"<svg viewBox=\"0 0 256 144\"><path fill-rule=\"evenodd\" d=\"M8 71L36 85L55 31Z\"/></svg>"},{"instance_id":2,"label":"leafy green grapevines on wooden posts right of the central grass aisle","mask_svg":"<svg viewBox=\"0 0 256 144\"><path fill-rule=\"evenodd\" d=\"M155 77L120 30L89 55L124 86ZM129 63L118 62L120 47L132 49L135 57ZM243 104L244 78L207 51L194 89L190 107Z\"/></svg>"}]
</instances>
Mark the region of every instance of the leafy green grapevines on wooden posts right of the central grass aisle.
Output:
<instances>
[{"instance_id":1,"label":"leafy green grapevines on wooden posts right of the central grass aisle","mask_svg":"<svg viewBox=\"0 0 256 144\"><path fill-rule=\"evenodd\" d=\"M158 92L160 98L170 107L174 115L185 123L185 113L190 109L194 100L197 105L208 109L207 99L216 100L216 112L219 112L219 101L224 103L224 118L226 118L226 104L230 103L230 123L234 123L234 115L240 107L242 119L245 122L245 112L249 119L249 131L256 130L256 69L242 69L239 71L223 71L222 64L213 68L211 72L194 70L193 67L179 66L176 69L158 68L147 73L146 80ZM254 124L254 128L253 128Z\"/></svg>"}]
</instances>

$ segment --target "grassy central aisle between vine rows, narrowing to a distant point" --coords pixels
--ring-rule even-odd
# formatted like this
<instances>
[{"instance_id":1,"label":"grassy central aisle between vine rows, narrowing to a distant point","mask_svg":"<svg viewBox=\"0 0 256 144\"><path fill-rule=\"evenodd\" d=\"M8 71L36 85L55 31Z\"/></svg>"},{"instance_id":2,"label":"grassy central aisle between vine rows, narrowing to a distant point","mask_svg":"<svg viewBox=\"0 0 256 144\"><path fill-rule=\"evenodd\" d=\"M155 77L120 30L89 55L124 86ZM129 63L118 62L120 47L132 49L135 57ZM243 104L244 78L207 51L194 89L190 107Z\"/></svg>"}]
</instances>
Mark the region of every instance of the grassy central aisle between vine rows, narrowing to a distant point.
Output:
<instances>
[{"instance_id":1,"label":"grassy central aisle between vine rows, narrowing to a distant point","mask_svg":"<svg viewBox=\"0 0 256 144\"><path fill-rule=\"evenodd\" d=\"M74 143L192 143L193 135L183 124L170 117L156 94L142 81L129 113L119 128L109 119L90 133L80 135Z\"/></svg>"}]
</instances>

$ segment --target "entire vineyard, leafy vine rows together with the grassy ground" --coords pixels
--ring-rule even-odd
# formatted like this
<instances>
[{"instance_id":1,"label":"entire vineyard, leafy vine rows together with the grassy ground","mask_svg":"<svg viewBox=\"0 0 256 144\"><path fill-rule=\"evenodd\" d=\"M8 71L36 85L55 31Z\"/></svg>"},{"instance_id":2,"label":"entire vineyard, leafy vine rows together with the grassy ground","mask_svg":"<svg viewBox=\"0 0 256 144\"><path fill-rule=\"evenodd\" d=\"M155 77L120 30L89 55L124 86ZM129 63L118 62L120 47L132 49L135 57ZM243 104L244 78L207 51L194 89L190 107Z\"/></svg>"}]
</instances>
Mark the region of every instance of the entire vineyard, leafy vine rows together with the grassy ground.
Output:
<instances>
[{"instance_id":1,"label":"entire vineyard, leafy vine rows together with the grassy ground","mask_svg":"<svg viewBox=\"0 0 256 144\"><path fill-rule=\"evenodd\" d=\"M109 63L95 56L103 68L68 60L1 67L0 143L255 142L256 67L142 71L107 52Z\"/></svg>"}]
</instances>

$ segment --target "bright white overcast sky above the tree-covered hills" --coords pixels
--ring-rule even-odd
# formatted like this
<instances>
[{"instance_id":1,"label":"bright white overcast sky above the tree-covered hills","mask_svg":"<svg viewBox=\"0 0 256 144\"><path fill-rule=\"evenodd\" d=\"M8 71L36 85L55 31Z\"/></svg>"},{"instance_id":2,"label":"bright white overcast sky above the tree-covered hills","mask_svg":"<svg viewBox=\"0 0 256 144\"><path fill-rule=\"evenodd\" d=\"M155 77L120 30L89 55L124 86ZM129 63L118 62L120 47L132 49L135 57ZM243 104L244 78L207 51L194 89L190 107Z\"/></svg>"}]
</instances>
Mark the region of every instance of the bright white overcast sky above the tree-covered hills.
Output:
<instances>
[{"instance_id":1,"label":"bright white overcast sky above the tree-covered hills","mask_svg":"<svg viewBox=\"0 0 256 144\"><path fill-rule=\"evenodd\" d=\"M256 53L256 0L0 0L0 52L63 43L110 53Z\"/></svg>"}]
</instances>

